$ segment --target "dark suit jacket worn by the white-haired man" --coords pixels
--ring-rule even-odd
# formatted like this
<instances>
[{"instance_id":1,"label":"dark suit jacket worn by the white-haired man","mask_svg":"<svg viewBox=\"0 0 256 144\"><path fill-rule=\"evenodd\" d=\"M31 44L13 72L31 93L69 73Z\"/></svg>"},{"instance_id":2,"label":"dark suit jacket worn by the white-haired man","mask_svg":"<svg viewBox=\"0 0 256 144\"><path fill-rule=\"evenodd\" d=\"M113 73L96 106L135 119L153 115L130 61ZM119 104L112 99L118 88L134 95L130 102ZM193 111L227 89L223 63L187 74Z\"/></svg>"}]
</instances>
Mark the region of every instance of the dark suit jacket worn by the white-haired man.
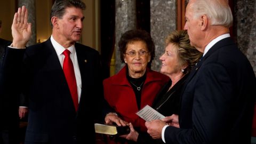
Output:
<instances>
[{"instance_id":1,"label":"dark suit jacket worn by the white-haired man","mask_svg":"<svg viewBox=\"0 0 256 144\"><path fill-rule=\"evenodd\" d=\"M256 78L231 38L216 43L188 77L180 128L168 126L166 143L251 143Z\"/></svg>"}]
</instances>

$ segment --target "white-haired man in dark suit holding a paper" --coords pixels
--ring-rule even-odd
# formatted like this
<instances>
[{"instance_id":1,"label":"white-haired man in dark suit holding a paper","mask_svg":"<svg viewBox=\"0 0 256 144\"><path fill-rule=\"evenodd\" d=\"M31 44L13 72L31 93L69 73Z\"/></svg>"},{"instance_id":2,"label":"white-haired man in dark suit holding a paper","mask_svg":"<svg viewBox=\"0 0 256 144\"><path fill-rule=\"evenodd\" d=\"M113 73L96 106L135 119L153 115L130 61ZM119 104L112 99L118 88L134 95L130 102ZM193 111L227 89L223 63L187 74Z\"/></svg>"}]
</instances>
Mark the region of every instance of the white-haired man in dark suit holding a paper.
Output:
<instances>
[{"instance_id":1,"label":"white-haired man in dark suit holding a paper","mask_svg":"<svg viewBox=\"0 0 256 144\"><path fill-rule=\"evenodd\" d=\"M179 127L173 116L146 122L148 133L165 143L251 143L256 78L249 60L229 35L228 1L190 0L185 18L190 44L203 52L188 77Z\"/></svg>"}]
</instances>

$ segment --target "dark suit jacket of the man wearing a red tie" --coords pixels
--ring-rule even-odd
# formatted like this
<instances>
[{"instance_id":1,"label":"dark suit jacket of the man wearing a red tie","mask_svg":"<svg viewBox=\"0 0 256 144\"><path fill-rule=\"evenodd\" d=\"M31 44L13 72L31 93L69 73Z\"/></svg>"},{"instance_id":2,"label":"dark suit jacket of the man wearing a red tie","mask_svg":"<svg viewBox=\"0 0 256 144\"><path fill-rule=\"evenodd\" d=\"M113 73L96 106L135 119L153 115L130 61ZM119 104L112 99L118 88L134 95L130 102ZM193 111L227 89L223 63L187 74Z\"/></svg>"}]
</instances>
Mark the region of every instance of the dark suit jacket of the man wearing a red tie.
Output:
<instances>
[{"instance_id":1,"label":"dark suit jacket of the man wearing a red tie","mask_svg":"<svg viewBox=\"0 0 256 144\"><path fill-rule=\"evenodd\" d=\"M82 44L75 47L82 78L77 113L50 39L26 50L6 49L4 94L22 91L29 97L25 143L95 141L94 118L102 96L99 53Z\"/></svg>"}]
</instances>

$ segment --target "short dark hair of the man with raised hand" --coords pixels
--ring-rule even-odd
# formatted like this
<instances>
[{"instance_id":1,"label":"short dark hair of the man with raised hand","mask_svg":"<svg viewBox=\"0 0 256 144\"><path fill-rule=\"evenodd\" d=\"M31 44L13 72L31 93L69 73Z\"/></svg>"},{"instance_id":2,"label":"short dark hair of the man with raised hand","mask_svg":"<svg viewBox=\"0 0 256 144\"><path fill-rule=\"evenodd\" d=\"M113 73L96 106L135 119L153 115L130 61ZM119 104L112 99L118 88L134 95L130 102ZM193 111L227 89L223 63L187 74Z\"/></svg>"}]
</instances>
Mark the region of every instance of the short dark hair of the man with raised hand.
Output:
<instances>
[{"instance_id":1,"label":"short dark hair of the man with raised hand","mask_svg":"<svg viewBox=\"0 0 256 144\"><path fill-rule=\"evenodd\" d=\"M62 19L67 7L76 7L81 10L85 10L86 6L81 0L56 0L52 5L51 17L57 17ZM52 26L52 22L51 22Z\"/></svg>"}]
</instances>

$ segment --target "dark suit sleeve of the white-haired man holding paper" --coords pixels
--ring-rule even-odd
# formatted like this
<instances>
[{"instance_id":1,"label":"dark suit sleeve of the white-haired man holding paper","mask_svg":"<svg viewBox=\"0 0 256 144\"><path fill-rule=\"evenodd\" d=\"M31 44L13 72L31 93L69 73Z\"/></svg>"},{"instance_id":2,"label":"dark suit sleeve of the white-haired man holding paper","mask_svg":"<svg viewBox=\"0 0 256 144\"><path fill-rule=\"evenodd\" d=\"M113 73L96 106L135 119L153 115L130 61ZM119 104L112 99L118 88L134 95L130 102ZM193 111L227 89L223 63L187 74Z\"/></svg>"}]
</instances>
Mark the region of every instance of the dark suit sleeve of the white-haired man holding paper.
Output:
<instances>
[{"instance_id":1,"label":"dark suit sleeve of the white-haired man holding paper","mask_svg":"<svg viewBox=\"0 0 256 144\"><path fill-rule=\"evenodd\" d=\"M178 129L168 126L166 143L221 143L223 135L229 133L232 84L227 70L218 63L208 63L194 76L192 128ZM187 86L188 87L188 86Z\"/></svg>"}]
</instances>

